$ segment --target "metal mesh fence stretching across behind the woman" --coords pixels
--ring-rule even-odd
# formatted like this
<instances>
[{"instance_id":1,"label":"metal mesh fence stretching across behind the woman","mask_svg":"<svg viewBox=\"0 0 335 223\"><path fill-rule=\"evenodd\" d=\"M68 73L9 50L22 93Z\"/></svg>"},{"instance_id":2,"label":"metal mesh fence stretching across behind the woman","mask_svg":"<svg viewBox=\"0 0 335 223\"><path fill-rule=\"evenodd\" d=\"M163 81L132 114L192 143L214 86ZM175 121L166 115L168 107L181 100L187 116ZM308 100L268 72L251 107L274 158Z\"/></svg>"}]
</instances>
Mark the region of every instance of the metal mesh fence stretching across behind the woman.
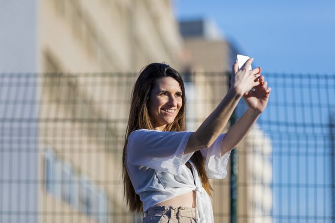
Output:
<instances>
[{"instance_id":1,"label":"metal mesh fence stretching across behind the woman","mask_svg":"<svg viewBox=\"0 0 335 223\"><path fill-rule=\"evenodd\" d=\"M141 222L121 184L137 75L0 74L0 222ZM236 150L232 175L211 181L215 222L333 223L335 75L266 79L268 107ZM229 78L184 80L188 130L196 130ZM242 100L231 122L245 110Z\"/></svg>"}]
</instances>

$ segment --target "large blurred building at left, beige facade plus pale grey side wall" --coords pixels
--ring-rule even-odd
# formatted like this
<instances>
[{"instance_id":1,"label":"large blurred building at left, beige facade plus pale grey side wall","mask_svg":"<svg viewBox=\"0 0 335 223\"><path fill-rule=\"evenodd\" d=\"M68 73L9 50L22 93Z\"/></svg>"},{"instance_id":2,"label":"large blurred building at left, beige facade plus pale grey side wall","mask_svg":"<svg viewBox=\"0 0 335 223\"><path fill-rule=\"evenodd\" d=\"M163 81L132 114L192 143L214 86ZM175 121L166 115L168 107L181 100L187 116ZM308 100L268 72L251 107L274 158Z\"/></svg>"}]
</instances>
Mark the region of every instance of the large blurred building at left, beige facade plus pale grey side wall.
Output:
<instances>
[{"instance_id":1,"label":"large blurred building at left, beige facade plus pale grey side wall","mask_svg":"<svg viewBox=\"0 0 335 223\"><path fill-rule=\"evenodd\" d=\"M141 219L128 213L123 200L123 140L118 136L125 132L138 71L153 61L182 68L182 38L170 0L16 0L1 2L0 14L1 72L37 73L33 79L26 76L28 83L3 79L3 92L12 84L29 91L16 96L29 100L25 108L30 112L24 114L24 128L22 122L1 123L3 140L15 135L29 142L26 153L21 145L14 153L12 145L2 144L7 151L1 152L6 170L1 179L26 181L1 183L1 210L9 213L1 220ZM103 72L115 75L94 75ZM123 76L125 72L134 74ZM129 84L113 87L122 78L129 78ZM101 100L126 103L111 108ZM15 117L10 110L20 111L20 106L1 110L3 117ZM19 214L10 215L15 211Z\"/></svg>"}]
</instances>

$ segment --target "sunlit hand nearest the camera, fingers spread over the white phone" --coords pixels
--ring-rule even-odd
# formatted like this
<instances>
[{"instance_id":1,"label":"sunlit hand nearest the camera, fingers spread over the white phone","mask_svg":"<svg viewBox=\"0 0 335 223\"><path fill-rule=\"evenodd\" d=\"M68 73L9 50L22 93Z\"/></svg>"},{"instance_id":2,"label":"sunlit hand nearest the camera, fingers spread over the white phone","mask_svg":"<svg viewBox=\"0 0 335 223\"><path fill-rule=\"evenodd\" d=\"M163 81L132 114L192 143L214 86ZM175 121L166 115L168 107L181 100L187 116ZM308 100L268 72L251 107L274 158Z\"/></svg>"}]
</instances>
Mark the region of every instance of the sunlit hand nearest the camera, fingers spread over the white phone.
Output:
<instances>
[{"instance_id":1,"label":"sunlit hand nearest the camera, fingers spread over the white phone","mask_svg":"<svg viewBox=\"0 0 335 223\"><path fill-rule=\"evenodd\" d=\"M253 70L249 70L251 63L254 58L248 59L241 69L238 69L237 60L233 65L233 75L230 81L231 88L235 90L235 92L242 96L246 92L250 91L253 87L256 87L260 84L257 77L259 77L260 68L255 68Z\"/></svg>"}]
</instances>

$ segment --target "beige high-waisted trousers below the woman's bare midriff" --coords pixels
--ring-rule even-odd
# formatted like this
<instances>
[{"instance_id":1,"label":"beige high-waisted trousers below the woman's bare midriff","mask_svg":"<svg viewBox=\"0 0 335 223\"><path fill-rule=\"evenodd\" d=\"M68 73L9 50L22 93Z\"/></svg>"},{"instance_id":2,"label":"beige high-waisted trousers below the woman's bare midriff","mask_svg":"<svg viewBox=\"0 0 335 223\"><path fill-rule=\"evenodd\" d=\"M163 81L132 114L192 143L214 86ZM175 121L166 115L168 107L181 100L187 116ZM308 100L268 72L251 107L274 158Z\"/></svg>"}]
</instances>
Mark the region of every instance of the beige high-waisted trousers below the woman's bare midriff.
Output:
<instances>
[{"instance_id":1,"label":"beige high-waisted trousers below the woman's bare midriff","mask_svg":"<svg viewBox=\"0 0 335 223\"><path fill-rule=\"evenodd\" d=\"M152 206L143 214L143 223L198 223L197 208Z\"/></svg>"}]
</instances>

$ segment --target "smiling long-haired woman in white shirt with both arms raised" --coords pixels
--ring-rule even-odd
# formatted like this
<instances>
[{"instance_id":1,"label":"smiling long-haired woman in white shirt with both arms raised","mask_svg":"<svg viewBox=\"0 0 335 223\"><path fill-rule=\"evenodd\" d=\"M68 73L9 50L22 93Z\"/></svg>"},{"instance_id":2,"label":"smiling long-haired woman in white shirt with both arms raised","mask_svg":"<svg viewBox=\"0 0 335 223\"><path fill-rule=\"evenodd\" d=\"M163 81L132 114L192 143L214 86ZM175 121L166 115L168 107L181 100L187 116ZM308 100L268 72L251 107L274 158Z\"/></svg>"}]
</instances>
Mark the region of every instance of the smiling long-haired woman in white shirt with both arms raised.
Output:
<instances>
[{"instance_id":1,"label":"smiling long-haired woman in white shirt with both arms raised","mask_svg":"<svg viewBox=\"0 0 335 223\"><path fill-rule=\"evenodd\" d=\"M123 180L130 211L143 211L143 223L214 222L208 178L225 178L230 151L268 103L271 89L260 76L260 67L248 70L252 61L241 69L235 61L227 95L195 132L185 131L180 74L161 63L141 71L131 101ZM242 97L248 110L221 134Z\"/></svg>"}]
</instances>

